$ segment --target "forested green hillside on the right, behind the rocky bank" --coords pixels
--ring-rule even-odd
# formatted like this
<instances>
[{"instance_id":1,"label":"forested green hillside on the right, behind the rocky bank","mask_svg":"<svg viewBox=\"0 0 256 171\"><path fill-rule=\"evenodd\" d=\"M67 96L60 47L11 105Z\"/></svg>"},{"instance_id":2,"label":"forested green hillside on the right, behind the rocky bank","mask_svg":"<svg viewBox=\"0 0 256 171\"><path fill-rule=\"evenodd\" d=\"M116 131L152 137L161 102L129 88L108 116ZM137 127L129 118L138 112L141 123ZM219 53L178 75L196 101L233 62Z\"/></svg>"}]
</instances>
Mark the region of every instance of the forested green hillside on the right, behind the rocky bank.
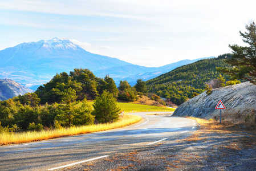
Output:
<instances>
[{"instance_id":1,"label":"forested green hillside on the right, behind the rocky bank","mask_svg":"<svg viewBox=\"0 0 256 171\"><path fill-rule=\"evenodd\" d=\"M227 57L226 57L227 56ZM149 92L164 97L174 104L180 105L186 100L204 92L205 84L220 77L216 67L229 67L224 59L231 54L218 58L204 59L178 67L173 71L162 74L146 82ZM228 80L227 75L224 76Z\"/></svg>"}]
</instances>

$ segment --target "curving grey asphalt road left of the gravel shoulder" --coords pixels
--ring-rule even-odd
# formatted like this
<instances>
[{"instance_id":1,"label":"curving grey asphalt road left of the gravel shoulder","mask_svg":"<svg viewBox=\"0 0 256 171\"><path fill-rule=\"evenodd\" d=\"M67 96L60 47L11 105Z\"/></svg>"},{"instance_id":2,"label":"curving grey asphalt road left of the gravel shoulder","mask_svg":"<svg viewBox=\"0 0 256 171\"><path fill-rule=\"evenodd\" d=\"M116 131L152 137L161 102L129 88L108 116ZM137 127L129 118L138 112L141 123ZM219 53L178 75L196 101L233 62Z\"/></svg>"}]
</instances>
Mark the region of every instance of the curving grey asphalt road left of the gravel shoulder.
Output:
<instances>
[{"instance_id":1,"label":"curving grey asphalt road left of the gravel shoulder","mask_svg":"<svg viewBox=\"0 0 256 171\"><path fill-rule=\"evenodd\" d=\"M169 115L133 113L143 120L129 127L20 145L0 146L0 170L55 170L149 146L195 131L197 122ZM162 112L157 112L162 113ZM147 114L147 115L146 115Z\"/></svg>"}]
</instances>

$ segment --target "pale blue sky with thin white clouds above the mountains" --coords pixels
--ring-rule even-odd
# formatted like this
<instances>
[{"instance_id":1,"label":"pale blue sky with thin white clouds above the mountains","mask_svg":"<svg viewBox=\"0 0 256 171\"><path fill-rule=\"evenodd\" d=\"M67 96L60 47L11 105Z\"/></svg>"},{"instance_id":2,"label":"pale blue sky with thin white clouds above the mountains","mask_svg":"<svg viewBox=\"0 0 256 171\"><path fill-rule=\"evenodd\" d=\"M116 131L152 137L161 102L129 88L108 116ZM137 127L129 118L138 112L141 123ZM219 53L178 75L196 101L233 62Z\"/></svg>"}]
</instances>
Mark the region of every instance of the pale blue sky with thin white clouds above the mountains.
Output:
<instances>
[{"instance_id":1,"label":"pale blue sky with thin white clouds above the mountains","mask_svg":"<svg viewBox=\"0 0 256 171\"><path fill-rule=\"evenodd\" d=\"M0 50L67 38L85 50L159 67L231 52L256 1L0 0Z\"/></svg>"}]
</instances>

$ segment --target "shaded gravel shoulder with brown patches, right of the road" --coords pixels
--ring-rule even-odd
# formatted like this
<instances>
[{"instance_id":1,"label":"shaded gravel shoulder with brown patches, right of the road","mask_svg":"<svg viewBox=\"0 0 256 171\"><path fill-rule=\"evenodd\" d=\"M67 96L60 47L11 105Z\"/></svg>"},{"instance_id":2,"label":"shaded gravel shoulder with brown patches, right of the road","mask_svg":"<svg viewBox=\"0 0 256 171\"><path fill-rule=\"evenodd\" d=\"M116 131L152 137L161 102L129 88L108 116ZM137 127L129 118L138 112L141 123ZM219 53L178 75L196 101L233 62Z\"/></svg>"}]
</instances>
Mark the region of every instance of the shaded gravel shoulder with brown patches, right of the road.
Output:
<instances>
[{"instance_id":1,"label":"shaded gravel shoulder with brown patches, right of the road","mask_svg":"<svg viewBox=\"0 0 256 171\"><path fill-rule=\"evenodd\" d=\"M188 136L63 170L256 170L256 135L204 124Z\"/></svg>"}]
</instances>

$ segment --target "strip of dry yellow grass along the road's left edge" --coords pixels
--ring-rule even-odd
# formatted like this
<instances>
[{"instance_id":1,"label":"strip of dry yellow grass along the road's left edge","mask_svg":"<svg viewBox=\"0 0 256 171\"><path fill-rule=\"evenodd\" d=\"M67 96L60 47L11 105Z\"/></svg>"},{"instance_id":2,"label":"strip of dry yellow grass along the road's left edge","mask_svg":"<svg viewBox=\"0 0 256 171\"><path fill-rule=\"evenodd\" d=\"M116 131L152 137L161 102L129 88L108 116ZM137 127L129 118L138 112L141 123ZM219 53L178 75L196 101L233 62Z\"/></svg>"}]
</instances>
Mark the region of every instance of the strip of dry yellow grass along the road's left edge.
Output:
<instances>
[{"instance_id":1,"label":"strip of dry yellow grass along the road's left edge","mask_svg":"<svg viewBox=\"0 0 256 171\"><path fill-rule=\"evenodd\" d=\"M72 136L84 133L105 131L109 129L125 127L126 125L137 123L140 120L140 116L124 115L124 117L121 117L120 120L115 123L87 125L63 129L50 129L48 131L43 130L40 132L29 131L21 133L1 133L0 145L29 143L32 141L48 140L63 136Z\"/></svg>"}]
</instances>

